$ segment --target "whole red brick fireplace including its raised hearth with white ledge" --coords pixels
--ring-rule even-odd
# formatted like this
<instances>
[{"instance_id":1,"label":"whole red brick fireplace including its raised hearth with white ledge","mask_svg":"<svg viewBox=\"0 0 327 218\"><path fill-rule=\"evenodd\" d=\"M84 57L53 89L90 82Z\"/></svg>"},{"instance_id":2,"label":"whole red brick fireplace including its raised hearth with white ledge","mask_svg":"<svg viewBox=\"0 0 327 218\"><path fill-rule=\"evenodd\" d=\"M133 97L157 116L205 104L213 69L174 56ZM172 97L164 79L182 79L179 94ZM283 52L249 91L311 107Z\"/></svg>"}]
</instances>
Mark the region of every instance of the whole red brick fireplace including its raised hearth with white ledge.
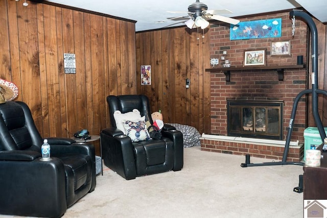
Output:
<instances>
[{"instance_id":1,"label":"whole red brick fireplace including its raised hearth with white ledge","mask_svg":"<svg viewBox=\"0 0 327 218\"><path fill-rule=\"evenodd\" d=\"M270 14L264 16L241 19L259 20L282 18L282 37L262 38L248 40L229 40L229 26L217 25L210 29L211 58L228 60L231 67L239 70L228 72L221 69L223 61L217 70L206 71L211 75L211 135L228 136L227 102L228 101L283 101L283 117L281 120L281 137L277 141L286 139L289 119L296 95L307 89L309 84L306 67L285 68L283 77L273 69L253 69L243 67L244 50L253 48L267 49L266 66L297 65L297 56L307 57L307 24L301 20L296 21L297 34L292 37L292 23L289 12ZM291 55L282 57L270 56L271 41L290 40ZM224 54L227 53L227 54ZM308 97L303 96L297 106L291 141L299 142L297 146L289 149L288 161L299 161L303 156L303 131L307 124ZM237 137L236 135L233 135ZM251 136L253 139L258 137ZM250 137L250 138L251 138ZM230 154L251 154L256 157L282 159L284 146L273 143L256 143L251 141L235 141L229 139L201 139L201 149L204 151L222 152Z\"/></svg>"}]
</instances>

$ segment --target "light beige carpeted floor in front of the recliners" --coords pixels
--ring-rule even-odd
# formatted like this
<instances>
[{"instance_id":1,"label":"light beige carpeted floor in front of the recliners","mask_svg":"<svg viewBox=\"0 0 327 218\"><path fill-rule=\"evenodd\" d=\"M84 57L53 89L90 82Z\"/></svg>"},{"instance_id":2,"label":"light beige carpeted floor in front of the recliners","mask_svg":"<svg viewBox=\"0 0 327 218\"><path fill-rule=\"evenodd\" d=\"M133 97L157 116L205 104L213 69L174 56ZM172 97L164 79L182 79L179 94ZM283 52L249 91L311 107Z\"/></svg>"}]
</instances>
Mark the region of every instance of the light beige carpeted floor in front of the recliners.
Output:
<instances>
[{"instance_id":1,"label":"light beige carpeted floor in front of the recliners","mask_svg":"<svg viewBox=\"0 0 327 218\"><path fill-rule=\"evenodd\" d=\"M293 191L302 166L242 168L244 162L244 156L192 147L184 148L179 172L127 181L104 167L96 190L63 217L303 217L303 194Z\"/></svg>"}]
</instances>

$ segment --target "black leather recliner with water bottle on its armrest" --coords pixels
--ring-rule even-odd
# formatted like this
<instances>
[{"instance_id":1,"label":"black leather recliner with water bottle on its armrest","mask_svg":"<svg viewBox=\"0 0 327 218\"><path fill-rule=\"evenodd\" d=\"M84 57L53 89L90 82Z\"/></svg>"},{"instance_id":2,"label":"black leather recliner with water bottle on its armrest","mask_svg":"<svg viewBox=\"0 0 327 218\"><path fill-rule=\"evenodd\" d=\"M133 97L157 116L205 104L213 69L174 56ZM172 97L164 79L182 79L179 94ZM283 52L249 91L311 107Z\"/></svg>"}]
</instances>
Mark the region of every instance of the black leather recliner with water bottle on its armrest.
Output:
<instances>
[{"instance_id":1,"label":"black leather recliner with water bottle on its armrest","mask_svg":"<svg viewBox=\"0 0 327 218\"><path fill-rule=\"evenodd\" d=\"M96 186L95 149L71 138L40 136L23 102L0 104L0 214L60 217Z\"/></svg>"}]
</instances>

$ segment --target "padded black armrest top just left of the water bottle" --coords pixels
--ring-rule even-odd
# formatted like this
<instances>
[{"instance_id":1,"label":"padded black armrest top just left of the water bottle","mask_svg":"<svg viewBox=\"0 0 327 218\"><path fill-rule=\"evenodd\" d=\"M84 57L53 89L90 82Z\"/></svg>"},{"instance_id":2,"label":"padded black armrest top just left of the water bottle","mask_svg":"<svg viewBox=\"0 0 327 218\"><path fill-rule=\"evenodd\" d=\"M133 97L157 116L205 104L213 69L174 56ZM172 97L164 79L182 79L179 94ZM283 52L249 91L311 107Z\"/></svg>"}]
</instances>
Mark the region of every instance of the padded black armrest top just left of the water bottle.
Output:
<instances>
[{"instance_id":1,"label":"padded black armrest top just left of the water bottle","mask_svg":"<svg viewBox=\"0 0 327 218\"><path fill-rule=\"evenodd\" d=\"M33 161L41 157L41 153L34 151L2 151L0 152L0 160L14 161Z\"/></svg>"}]
</instances>

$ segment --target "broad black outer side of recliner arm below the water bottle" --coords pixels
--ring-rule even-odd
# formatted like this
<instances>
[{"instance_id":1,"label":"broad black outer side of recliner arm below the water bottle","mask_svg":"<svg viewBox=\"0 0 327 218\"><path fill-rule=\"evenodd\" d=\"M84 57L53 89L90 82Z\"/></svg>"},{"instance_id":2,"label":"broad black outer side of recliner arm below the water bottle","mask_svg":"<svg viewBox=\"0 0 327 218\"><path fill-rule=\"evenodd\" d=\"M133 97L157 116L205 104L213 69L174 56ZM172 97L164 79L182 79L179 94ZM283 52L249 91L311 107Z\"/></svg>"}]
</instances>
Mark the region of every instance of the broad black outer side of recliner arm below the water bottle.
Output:
<instances>
[{"instance_id":1,"label":"broad black outer side of recliner arm below the water bottle","mask_svg":"<svg viewBox=\"0 0 327 218\"><path fill-rule=\"evenodd\" d=\"M66 178L60 159L3 160L0 178L0 214L61 217L65 213Z\"/></svg>"}]
</instances>

